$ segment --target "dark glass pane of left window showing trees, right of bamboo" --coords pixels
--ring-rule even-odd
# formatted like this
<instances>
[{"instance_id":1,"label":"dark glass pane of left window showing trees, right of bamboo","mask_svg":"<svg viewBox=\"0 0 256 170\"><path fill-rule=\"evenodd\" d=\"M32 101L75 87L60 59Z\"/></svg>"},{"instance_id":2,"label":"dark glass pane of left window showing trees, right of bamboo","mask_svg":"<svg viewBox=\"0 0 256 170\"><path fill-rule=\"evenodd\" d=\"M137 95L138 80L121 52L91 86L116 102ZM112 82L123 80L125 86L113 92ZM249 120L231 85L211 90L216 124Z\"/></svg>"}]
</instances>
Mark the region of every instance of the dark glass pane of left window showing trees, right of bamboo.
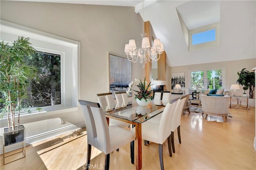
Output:
<instances>
[{"instance_id":1,"label":"dark glass pane of left window showing trees, right of bamboo","mask_svg":"<svg viewBox=\"0 0 256 170\"><path fill-rule=\"evenodd\" d=\"M37 51L27 59L28 65L34 65L36 78L30 82L30 107L43 107L61 104L61 64L60 55Z\"/></svg>"}]
</instances>

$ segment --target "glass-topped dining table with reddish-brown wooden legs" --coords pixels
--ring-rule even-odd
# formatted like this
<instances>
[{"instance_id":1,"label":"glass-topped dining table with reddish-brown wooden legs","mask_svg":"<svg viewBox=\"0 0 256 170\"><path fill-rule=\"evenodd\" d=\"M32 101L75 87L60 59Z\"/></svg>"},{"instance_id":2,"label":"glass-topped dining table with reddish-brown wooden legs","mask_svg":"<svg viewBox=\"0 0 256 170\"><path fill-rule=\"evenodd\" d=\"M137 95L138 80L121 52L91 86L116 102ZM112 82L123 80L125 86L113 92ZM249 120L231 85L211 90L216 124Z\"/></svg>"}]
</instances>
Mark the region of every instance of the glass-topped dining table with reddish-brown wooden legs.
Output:
<instances>
[{"instance_id":1,"label":"glass-topped dining table with reddish-brown wooden legs","mask_svg":"<svg viewBox=\"0 0 256 170\"><path fill-rule=\"evenodd\" d=\"M142 168L142 123L163 111L164 106L157 106L153 103L150 103L148 106L139 106L137 103L131 103L125 108L105 112L108 123L110 118L135 125L135 143L137 145L135 147L136 170Z\"/></svg>"}]
</instances>

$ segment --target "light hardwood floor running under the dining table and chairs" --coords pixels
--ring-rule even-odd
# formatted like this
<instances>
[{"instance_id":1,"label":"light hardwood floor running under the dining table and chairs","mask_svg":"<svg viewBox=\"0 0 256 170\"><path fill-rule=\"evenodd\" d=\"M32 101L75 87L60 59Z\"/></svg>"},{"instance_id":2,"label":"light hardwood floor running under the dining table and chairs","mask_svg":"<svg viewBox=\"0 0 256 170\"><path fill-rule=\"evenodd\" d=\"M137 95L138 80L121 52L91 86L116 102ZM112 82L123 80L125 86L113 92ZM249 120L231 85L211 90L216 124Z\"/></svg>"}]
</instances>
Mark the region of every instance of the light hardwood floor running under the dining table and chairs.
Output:
<instances>
[{"instance_id":1,"label":"light hardwood floor running under the dining table and chairs","mask_svg":"<svg viewBox=\"0 0 256 170\"><path fill-rule=\"evenodd\" d=\"M168 154L163 146L164 168L176 170L255 170L255 108L230 109L233 118L224 123L222 117L184 113L181 118L181 140L174 132L176 153ZM26 158L2 164L2 170L76 170L84 169L87 154L86 129L70 132L26 147ZM104 168L105 156L92 147L92 169ZM158 144L142 146L142 169L160 169ZM130 163L130 145L110 154L110 169L136 169Z\"/></svg>"}]
</instances>

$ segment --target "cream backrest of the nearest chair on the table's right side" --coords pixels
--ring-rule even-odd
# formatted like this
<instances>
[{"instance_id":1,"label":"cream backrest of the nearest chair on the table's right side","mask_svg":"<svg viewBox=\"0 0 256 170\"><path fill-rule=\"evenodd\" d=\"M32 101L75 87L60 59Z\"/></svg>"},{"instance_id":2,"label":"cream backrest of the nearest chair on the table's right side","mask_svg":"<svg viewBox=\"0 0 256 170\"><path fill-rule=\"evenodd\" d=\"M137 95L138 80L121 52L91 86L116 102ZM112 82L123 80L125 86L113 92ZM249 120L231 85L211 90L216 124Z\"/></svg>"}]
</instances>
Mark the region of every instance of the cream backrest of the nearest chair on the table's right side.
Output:
<instances>
[{"instance_id":1,"label":"cream backrest of the nearest chair on the table's right side","mask_svg":"<svg viewBox=\"0 0 256 170\"><path fill-rule=\"evenodd\" d=\"M164 111L162 113L162 117L159 123L158 129L158 143L163 144L164 141L170 136L171 134L171 123L170 120L174 115L174 110L177 107L178 102L180 101L179 98L174 99L171 103L167 103Z\"/></svg>"}]
</instances>

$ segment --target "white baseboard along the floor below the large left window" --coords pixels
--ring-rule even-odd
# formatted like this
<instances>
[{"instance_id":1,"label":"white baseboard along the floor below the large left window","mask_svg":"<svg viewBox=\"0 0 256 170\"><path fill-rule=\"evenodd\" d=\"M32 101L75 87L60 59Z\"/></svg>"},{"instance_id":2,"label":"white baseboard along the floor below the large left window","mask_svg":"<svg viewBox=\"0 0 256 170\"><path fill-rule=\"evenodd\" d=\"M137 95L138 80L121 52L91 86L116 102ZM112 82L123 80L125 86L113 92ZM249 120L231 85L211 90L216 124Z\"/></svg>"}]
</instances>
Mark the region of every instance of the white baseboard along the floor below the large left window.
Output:
<instances>
[{"instance_id":1,"label":"white baseboard along the floor below the large left window","mask_svg":"<svg viewBox=\"0 0 256 170\"><path fill-rule=\"evenodd\" d=\"M42 140L46 140L48 138L52 138L54 136L58 136L58 135L61 135L61 134L67 133L67 132L71 132L73 130L77 130L79 128L83 128L83 127L84 127L84 122L78 123L76 125L69 125L69 126L66 126L63 128L58 128L58 129L44 132L44 133L41 133L38 135L29 136L28 138L26 138L26 146L36 143L36 142L40 142ZM5 153L6 153L6 152L10 152L10 151L19 149L19 148L22 148L22 142L17 143L17 144L12 144L10 146L5 146L4 149L5 149ZM2 153L3 153L3 146L1 145L0 146L0 154L2 154Z\"/></svg>"}]
</instances>

